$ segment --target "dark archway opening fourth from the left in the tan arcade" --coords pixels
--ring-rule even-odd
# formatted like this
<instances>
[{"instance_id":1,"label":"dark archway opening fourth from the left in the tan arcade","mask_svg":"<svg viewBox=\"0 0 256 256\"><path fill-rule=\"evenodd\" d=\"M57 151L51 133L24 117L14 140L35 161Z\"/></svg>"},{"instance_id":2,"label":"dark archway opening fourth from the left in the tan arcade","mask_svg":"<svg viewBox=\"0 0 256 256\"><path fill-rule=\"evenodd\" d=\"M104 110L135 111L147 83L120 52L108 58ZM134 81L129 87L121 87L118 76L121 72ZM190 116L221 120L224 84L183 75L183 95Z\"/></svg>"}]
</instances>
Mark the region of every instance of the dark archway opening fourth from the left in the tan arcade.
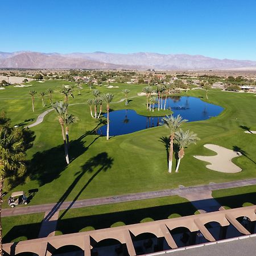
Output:
<instances>
[{"instance_id":1,"label":"dark archway opening fourth from the left in the tan arcade","mask_svg":"<svg viewBox=\"0 0 256 256\"><path fill-rule=\"evenodd\" d=\"M133 241L136 255L171 249L164 237L156 237L152 233L142 233L136 237L131 234L131 240Z\"/></svg>"}]
</instances>

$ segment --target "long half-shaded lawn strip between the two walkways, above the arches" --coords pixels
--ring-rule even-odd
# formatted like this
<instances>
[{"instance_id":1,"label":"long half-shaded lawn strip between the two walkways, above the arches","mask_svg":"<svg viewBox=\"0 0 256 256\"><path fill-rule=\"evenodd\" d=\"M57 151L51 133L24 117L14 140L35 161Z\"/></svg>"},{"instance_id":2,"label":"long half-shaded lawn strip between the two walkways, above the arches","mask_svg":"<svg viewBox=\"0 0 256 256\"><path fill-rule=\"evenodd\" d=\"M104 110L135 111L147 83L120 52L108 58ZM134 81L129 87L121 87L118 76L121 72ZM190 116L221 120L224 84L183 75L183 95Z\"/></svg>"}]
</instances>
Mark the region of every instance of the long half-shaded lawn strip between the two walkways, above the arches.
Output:
<instances>
[{"instance_id":1,"label":"long half-shaded lawn strip between the two walkways, above the arches","mask_svg":"<svg viewBox=\"0 0 256 256\"><path fill-rule=\"evenodd\" d=\"M179 196L62 210L56 234L84 232L192 215L196 208Z\"/></svg>"}]
</instances>

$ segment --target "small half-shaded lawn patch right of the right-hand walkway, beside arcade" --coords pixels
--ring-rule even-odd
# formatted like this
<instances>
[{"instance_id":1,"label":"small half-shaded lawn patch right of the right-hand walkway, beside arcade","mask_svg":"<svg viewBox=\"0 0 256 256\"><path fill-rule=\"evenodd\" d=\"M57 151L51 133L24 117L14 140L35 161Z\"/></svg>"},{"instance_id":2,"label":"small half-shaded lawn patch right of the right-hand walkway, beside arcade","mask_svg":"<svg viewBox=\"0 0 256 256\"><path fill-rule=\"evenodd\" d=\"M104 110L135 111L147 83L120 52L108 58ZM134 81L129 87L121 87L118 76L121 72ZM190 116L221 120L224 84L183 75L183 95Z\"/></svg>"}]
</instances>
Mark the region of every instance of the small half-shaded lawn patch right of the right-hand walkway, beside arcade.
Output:
<instances>
[{"instance_id":1,"label":"small half-shaded lawn patch right of the right-hand walkway, beside arcade","mask_svg":"<svg viewBox=\"0 0 256 256\"><path fill-rule=\"evenodd\" d=\"M256 185L240 188L219 189L212 196L225 209L247 207L256 204Z\"/></svg>"}]
</instances>

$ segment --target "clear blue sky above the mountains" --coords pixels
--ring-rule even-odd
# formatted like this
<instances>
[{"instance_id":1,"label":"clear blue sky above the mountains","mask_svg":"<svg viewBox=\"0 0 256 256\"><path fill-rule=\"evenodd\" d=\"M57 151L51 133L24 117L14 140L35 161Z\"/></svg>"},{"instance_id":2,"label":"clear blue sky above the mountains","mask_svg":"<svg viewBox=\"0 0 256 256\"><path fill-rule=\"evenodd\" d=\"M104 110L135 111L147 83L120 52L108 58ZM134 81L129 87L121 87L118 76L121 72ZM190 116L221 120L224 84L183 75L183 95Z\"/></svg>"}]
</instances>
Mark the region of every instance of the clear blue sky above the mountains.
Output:
<instances>
[{"instance_id":1,"label":"clear blue sky above the mountains","mask_svg":"<svg viewBox=\"0 0 256 256\"><path fill-rule=\"evenodd\" d=\"M0 51L256 60L256 0L0 0Z\"/></svg>"}]
</instances>

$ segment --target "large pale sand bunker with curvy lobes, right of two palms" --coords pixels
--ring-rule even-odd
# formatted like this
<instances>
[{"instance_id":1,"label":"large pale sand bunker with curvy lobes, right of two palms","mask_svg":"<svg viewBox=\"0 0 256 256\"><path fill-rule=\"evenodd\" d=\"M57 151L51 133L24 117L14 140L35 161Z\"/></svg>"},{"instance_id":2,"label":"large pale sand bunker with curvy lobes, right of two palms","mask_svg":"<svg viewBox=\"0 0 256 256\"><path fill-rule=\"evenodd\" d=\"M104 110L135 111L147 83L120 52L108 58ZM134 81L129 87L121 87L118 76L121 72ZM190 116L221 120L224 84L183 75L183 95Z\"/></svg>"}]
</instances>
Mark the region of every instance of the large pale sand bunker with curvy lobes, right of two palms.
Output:
<instances>
[{"instance_id":1,"label":"large pale sand bunker with curvy lobes, right of two palms","mask_svg":"<svg viewBox=\"0 0 256 256\"><path fill-rule=\"evenodd\" d=\"M229 150L228 148L221 147L214 144L205 144L204 147L209 150L217 152L214 156L201 156L194 155L196 159L209 162L206 167L213 171L226 172L228 174L235 174L236 172L241 172L242 169L236 164L232 163L232 158L241 156L242 154L237 151Z\"/></svg>"}]
</instances>

